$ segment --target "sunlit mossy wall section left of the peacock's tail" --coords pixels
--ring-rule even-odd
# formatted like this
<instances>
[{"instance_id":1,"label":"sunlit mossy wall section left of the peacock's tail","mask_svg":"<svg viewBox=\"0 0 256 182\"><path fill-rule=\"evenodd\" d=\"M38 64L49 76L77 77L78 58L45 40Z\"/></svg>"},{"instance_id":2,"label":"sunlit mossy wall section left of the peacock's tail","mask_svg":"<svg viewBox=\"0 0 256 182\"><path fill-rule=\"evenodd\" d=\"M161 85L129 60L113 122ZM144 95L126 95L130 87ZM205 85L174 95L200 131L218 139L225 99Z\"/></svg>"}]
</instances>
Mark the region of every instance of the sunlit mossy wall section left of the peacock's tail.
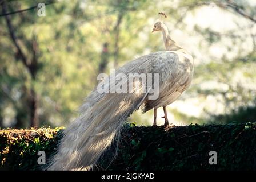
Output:
<instances>
[{"instance_id":1,"label":"sunlit mossy wall section left of the peacock's tail","mask_svg":"<svg viewBox=\"0 0 256 182\"><path fill-rule=\"evenodd\" d=\"M56 150L62 128L0 131L0 169L35 170L38 151L45 151L49 157Z\"/></svg>"}]
</instances>

